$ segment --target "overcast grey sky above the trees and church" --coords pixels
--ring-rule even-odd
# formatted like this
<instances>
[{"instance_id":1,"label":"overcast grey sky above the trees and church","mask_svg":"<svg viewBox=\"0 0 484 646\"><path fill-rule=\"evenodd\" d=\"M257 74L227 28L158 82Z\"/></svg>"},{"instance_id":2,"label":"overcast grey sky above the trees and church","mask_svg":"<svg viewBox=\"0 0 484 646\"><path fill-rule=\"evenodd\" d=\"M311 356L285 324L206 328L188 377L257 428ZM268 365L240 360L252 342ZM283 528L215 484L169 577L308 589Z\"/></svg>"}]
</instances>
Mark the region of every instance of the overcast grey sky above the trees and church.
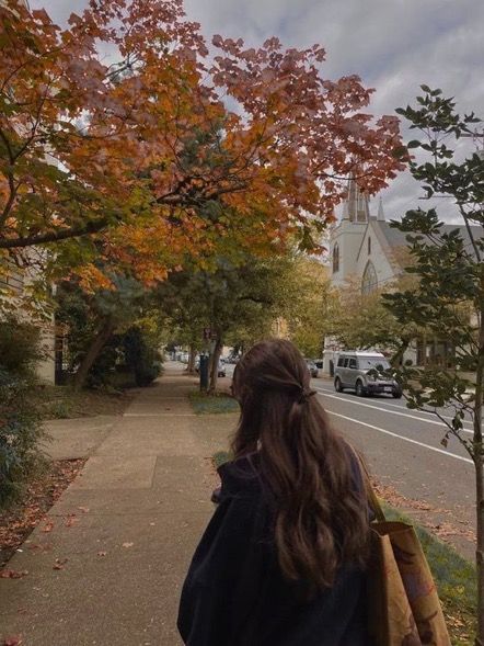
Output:
<instances>
[{"instance_id":1,"label":"overcast grey sky above the trees and church","mask_svg":"<svg viewBox=\"0 0 484 646\"><path fill-rule=\"evenodd\" d=\"M30 0L59 23L87 3ZM370 106L377 116L412 103L422 83L453 95L461 112L484 116L483 0L185 0L185 9L207 38L242 37L254 46L276 35L301 48L319 43L326 50L322 75L359 75L377 90ZM387 218L427 207L418 201L420 194L408 174L400 175L381 193ZM453 219L448 201L436 205Z\"/></svg>"}]
</instances>

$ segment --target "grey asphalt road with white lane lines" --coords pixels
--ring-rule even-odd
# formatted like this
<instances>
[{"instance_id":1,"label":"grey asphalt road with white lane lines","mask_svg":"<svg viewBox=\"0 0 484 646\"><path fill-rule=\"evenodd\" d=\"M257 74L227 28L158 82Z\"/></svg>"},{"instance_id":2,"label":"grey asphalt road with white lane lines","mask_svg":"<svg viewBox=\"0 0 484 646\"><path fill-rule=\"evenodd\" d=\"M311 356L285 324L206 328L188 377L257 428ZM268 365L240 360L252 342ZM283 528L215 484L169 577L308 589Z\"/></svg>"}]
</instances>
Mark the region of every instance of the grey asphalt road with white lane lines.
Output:
<instances>
[{"instance_id":1,"label":"grey asphalt road with white lane lines","mask_svg":"<svg viewBox=\"0 0 484 646\"><path fill-rule=\"evenodd\" d=\"M233 365L227 365L228 377L232 372ZM474 467L454 438L447 447L441 445L443 423L431 413L407 409L404 399L338 394L332 381L321 377L311 386L333 427L362 452L379 481L410 499L401 501L406 511L431 529L437 526L437 533L473 558ZM464 434L472 437L469 421Z\"/></svg>"}]
</instances>

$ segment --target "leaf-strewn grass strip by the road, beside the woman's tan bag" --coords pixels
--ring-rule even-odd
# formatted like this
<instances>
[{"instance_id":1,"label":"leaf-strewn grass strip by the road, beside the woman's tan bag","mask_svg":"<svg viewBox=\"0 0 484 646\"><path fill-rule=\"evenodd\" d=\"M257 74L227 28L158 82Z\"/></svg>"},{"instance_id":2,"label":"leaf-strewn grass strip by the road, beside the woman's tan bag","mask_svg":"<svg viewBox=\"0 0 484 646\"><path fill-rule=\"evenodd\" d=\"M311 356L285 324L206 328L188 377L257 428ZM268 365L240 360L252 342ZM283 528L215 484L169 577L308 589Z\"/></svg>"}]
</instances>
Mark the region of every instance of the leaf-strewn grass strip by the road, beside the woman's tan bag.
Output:
<instances>
[{"instance_id":1,"label":"leaf-strewn grass strip by the road, beside the woman's tan bag","mask_svg":"<svg viewBox=\"0 0 484 646\"><path fill-rule=\"evenodd\" d=\"M231 460L231 455L218 451L212 460L218 468ZM474 565L399 509L384 502L382 507L388 520L400 520L415 528L434 575L452 646L472 646L477 616Z\"/></svg>"}]
</instances>

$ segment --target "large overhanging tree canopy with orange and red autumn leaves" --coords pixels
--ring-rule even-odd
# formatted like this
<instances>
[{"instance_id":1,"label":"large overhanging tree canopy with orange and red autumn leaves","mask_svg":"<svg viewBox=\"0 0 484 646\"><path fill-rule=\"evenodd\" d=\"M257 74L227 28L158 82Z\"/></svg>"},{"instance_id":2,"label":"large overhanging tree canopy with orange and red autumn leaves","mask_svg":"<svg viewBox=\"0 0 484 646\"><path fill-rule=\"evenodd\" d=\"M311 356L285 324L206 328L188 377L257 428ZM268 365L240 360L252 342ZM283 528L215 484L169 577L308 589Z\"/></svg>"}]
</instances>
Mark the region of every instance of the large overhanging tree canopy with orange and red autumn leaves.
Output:
<instances>
[{"instance_id":1,"label":"large overhanging tree canopy with orange and red autumn leaves","mask_svg":"<svg viewBox=\"0 0 484 646\"><path fill-rule=\"evenodd\" d=\"M397 120L372 123L357 77L321 78L316 45L215 36L209 50L181 0L91 0L65 30L7 0L0 24L0 249L25 262L43 243L72 260L69 241L94 237L107 257L142 252L157 280L164 253L196 257L228 213L252 223L247 243L311 246L339 178L357 163L374 192L402 167Z\"/></svg>"}]
</instances>

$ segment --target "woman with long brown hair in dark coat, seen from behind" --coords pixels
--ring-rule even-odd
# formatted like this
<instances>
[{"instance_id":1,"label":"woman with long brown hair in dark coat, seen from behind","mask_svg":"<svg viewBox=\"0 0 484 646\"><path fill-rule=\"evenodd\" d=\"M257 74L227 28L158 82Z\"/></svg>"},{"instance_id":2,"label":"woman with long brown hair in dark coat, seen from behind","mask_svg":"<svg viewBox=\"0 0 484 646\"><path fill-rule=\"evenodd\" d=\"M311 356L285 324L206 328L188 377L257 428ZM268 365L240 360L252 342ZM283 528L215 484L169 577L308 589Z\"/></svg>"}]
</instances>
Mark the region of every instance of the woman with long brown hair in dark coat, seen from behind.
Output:
<instances>
[{"instance_id":1,"label":"woman with long brown hair in dark coat, seen from behind","mask_svg":"<svg viewBox=\"0 0 484 646\"><path fill-rule=\"evenodd\" d=\"M187 646L366 646L368 508L357 460L327 423L289 341L239 362L234 461L193 558Z\"/></svg>"}]
</instances>

